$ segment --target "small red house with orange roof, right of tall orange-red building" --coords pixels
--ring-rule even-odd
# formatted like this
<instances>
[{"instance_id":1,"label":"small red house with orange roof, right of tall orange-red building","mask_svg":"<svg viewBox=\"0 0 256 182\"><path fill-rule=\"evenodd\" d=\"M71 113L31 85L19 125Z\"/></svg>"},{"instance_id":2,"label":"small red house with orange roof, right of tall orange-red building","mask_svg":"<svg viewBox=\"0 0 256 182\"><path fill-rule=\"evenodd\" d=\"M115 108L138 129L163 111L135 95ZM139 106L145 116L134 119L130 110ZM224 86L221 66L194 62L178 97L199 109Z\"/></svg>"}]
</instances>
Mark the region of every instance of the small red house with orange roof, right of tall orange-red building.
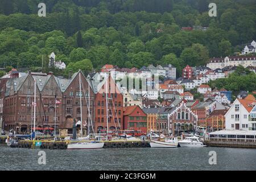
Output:
<instances>
[{"instance_id":1,"label":"small red house with orange roof, right of tall orange-red building","mask_svg":"<svg viewBox=\"0 0 256 182\"><path fill-rule=\"evenodd\" d=\"M141 130L147 133L147 114L139 106L125 107L123 113L125 130Z\"/></svg>"}]
</instances>

